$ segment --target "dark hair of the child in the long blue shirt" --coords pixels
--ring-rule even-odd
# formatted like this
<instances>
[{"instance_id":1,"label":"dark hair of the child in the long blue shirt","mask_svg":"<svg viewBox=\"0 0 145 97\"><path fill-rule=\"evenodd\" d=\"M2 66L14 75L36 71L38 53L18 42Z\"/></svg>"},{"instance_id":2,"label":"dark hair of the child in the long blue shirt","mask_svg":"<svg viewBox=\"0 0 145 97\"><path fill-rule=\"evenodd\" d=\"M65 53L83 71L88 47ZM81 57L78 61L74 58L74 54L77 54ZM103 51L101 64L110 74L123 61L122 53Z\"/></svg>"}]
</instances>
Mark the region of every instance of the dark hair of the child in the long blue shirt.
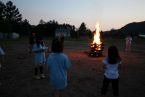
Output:
<instances>
[{"instance_id":1,"label":"dark hair of the child in the long blue shirt","mask_svg":"<svg viewBox=\"0 0 145 97\"><path fill-rule=\"evenodd\" d=\"M52 40L51 51L54 53L63 52L63 41L59 38L54 38Z\"/></svg>"}]
</instances>

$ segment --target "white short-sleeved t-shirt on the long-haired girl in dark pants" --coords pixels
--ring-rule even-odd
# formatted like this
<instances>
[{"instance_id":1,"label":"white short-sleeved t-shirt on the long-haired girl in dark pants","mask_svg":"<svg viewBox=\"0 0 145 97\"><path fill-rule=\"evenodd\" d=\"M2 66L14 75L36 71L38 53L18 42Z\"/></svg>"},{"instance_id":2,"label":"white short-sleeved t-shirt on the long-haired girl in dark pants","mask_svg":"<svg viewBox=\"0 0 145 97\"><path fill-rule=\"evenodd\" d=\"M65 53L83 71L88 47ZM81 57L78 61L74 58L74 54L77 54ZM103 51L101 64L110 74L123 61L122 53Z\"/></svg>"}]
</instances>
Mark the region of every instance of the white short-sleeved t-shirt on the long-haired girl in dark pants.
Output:
<instances>
[{"instance_id":1,"label":"white short-sleeved t-shirt on the long-haired girl in dark pants","mask_svg":"<svg viewBox=\"0 0 145 97\"><path fill-rule=\"evenodd\" d=\"M118 66L119 64L121 64L121 61L115 64L110 64L108 63L108 59L105 58L103 60L103 63L106 66L104 75L105 77L109 78L109 79L117 79L119 77L119 71L118 71Z\"/></svg>"}]
</instances>

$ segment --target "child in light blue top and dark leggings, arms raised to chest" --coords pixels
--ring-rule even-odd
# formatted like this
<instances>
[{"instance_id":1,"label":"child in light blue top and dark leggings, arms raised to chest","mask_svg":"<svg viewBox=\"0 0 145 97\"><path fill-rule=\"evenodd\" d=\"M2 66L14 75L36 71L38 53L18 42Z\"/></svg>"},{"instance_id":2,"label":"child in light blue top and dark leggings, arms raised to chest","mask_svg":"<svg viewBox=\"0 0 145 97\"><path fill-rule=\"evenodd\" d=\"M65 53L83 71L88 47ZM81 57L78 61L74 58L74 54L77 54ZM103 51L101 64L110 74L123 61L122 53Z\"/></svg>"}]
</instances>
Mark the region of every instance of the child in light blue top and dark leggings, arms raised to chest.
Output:
<instances>
[{"instance_id":1,"label":"child in light blue top and dark leggings, arms raised to chest","mask_svg":"<svg viewBox=\"0 0 145 97\"><path fill-rule=\"evenodd\" d=\"M45 78L43 73L43 65L46 62L45 51L47 47L44 44L44 41L41 37L36 38L36 43L32 47L32 52L34 52L35 57L35 79ZM38 74L38 70L40 70L40 76Z\"/></svg>"}]
</instances>

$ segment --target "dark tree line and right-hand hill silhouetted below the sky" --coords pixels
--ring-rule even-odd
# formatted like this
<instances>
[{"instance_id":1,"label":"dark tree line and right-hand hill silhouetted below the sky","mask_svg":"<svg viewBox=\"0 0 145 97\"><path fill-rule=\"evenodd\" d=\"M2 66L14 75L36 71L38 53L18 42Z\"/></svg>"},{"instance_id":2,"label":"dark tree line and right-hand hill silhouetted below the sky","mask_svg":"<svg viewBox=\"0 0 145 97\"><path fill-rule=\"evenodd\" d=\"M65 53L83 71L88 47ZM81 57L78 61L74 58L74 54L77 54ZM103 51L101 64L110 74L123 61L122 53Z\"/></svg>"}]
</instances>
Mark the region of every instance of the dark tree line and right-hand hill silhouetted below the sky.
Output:
<instances>
[{"instance_id":1,"label":"dark tree line and right-hand hill silhouetted below the sky","mask_svg":"<svg viewBox=\"0 0 145 97\"><path fill-rule=\"evenodd\" d=\"M69 29L73 38L79 38L81 36L92 37L93 33L86 27L84 22L81 23L79 28L70 24L59 24L55 20L45 22L42 19L38 25L31 25L27 19L22 18L22 14L12 1L4 4L0 0L0 32L2 33L16 32L20 35L29 35L31 32L36 32L43 36L53 37L57 28ZM120 29L111 29L110 31L102 32L104 32L104 37L124 37L127 34L138 36L145 33L145 21L129 23Z\"/></svg>"}]
</instances>

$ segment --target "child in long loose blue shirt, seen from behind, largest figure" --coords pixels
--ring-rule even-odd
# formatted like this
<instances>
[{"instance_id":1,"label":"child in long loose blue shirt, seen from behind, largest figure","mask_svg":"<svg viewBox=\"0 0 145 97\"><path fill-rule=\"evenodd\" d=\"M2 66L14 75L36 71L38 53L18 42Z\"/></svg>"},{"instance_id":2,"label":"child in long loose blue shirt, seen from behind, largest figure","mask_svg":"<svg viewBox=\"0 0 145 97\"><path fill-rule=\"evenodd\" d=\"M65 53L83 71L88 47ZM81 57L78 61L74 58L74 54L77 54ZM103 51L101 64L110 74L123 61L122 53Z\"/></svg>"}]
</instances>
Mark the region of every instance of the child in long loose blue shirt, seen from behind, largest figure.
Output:
<instances>
[{"instance_id":1,"label":"child in long loose blue shirt, seen from behind, largest figure","mask_svg":"<svg viewBox=\"0 0 145 97\"><path fill-rule=\"evenodd\" d=\"M67 87L67 71L71 66L69 58L63 53L63 42L56 38L52 41L51 54L48 56L50 84L54 88L54 97L62 97Z\"/></svg>"}]
</instances>

